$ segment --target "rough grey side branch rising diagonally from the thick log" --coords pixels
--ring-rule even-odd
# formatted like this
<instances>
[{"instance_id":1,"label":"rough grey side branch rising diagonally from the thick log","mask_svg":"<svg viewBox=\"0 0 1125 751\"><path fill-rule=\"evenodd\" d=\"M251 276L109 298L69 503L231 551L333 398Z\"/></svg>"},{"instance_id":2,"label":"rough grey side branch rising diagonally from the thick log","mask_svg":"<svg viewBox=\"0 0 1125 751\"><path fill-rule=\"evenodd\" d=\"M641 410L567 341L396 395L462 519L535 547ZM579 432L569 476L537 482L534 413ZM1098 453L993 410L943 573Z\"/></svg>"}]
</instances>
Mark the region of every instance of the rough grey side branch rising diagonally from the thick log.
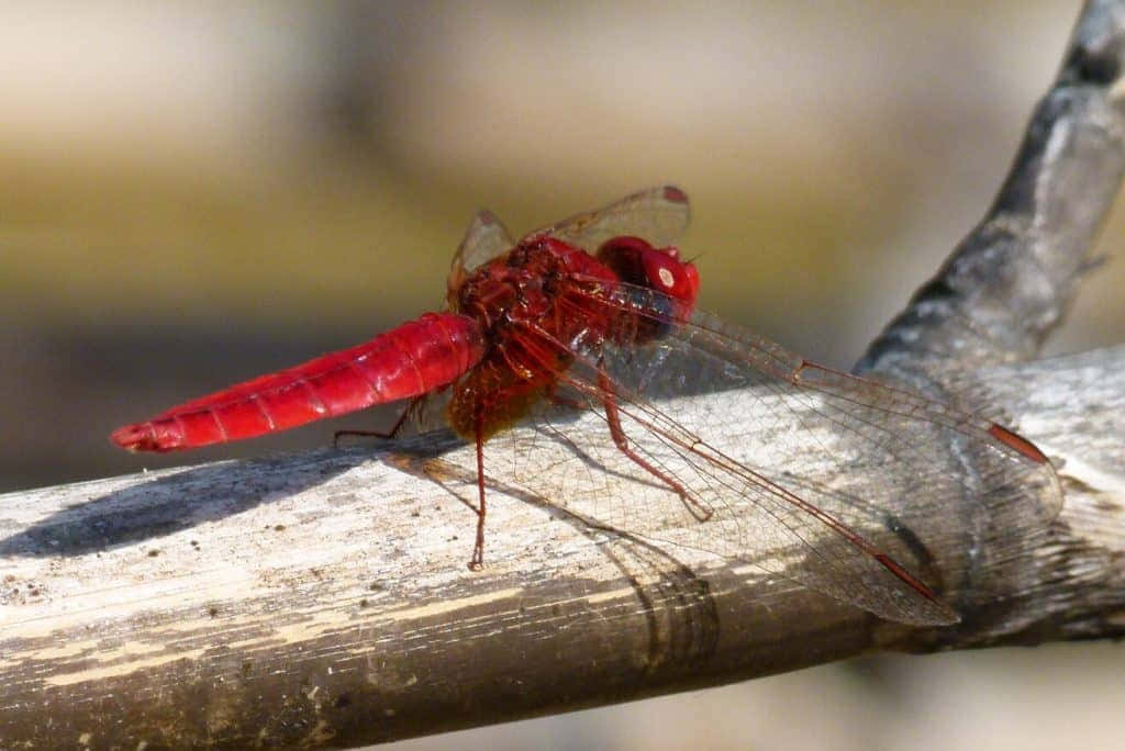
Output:
<instances>
[{"instance_id":1,"label":"rough grey side branch rising diagonally from the thick log","mask_svg":"<svg viewBox=\"0 0 1125 751\"><path fill-rule=\"evenodd\" d=\"M1125 7L1094 1L984 219L872 343L858 372L1033 356L1062 320L1125 170Z\"/></svg>"}]
</instances>

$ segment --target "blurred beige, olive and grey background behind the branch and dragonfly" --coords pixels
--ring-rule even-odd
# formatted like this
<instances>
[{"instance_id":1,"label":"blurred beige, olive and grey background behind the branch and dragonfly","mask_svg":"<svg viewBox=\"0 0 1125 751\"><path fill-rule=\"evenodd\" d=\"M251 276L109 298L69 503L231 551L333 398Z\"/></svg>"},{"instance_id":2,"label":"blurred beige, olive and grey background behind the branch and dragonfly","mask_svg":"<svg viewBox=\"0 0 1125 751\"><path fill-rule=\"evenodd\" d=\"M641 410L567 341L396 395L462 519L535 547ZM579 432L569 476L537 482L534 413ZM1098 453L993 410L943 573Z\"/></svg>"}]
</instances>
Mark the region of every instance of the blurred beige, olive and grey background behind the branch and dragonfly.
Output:
<instances>
[{"instance_id":1,"label":"blurred beige, olive and grey background behind the branch and dragonfly","mask_svg":"<svg viewBox=\"0 0 1125 751\"><path fill-rule=\"evenodd\" d=\"M676 182L701 306L850 367L988 207L1080 7L903 4L0 6L0 491L386 427L105 437L440 306L485 206L520 234ZM1123 283L1048 353L1120 342ZM1123 676L1107 644L880 658L403 748L1113 748Z\"/></svg>"}]
</instances>

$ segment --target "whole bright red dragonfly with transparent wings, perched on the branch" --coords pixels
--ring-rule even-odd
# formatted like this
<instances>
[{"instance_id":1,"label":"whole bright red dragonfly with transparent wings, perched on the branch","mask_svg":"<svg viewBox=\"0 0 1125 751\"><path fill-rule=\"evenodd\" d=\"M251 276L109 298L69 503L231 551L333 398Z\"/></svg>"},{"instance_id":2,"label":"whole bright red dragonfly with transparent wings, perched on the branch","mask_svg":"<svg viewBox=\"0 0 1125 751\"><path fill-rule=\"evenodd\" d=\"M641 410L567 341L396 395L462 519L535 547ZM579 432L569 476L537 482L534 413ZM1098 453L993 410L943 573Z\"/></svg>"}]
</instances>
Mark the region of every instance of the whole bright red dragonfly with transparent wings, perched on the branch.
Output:
<instances>
[{"instance_id":1,"label":"whole bright red dragonfly with transparent wings, perched on the branch","mask_svg":"<svg viewBox=\"0 0 1125 751\"><path fill-rule=\"evenodd\" d=\"M1041 532L1061 505L1050 462L986 418L696 311L699 272L674 246L687 220L687 197L672 186L519 242L482 211L453 257L446 311L111 438L194 449L400 399L413 400L403 418L418 416L440 395L446 423L476 446L472 569L484 561L489 442L505 479L586 504L622 531L746 560L886 618L956 622L935 571L972 571L935 565L917 530L962 535L964 549L989 531L997 548L989 525L1012 540ZM714 391L730 409L716 410ZM573 438L582 414L601 428ZM518 423L531 433L507 431ZM597 479L609 474L636 492L611 492Z\"/></svg>"}]
</instances>

